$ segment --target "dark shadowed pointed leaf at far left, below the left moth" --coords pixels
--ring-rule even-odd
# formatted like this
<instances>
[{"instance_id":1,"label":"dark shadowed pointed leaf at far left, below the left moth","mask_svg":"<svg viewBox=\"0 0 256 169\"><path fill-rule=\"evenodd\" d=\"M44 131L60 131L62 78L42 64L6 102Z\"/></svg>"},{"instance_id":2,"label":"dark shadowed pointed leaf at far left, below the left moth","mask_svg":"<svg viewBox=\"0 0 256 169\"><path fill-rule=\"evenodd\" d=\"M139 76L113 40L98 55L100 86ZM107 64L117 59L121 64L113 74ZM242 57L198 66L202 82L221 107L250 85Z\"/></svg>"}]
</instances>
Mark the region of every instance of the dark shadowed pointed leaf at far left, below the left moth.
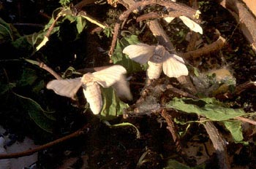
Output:
<instances>
[{"instance_id":1,"label":"dark shadowed pointed leaf at far left, below the left moth","mask_svg":"<svg viewBox=\"0 0 256 169\"><path fill-rule=\"evenodd\" d=\"M47 112L42 109L42 107L36 101L33 101L31 98L26 98L22 95L18 95L18 101L25 111L28 111L29 117L40 127L42 130L47 131L48 133L53 133L53 118L50 116L48 118Z\"/></svg>"}]
</instances>

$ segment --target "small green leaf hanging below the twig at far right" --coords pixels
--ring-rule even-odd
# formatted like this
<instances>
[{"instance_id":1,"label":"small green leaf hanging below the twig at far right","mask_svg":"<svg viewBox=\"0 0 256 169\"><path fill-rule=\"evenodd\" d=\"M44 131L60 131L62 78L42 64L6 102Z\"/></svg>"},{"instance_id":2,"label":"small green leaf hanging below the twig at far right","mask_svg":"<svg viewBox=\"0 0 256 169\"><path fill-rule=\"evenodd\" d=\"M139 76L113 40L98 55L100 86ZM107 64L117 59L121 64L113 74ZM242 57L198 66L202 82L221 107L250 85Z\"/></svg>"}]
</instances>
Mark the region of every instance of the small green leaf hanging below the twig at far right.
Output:
<instances>
[{"instance_id":1,"label":"small green leaf hanging below the twig at far right","mask_svg":"<svg viewBox=\"0 0 256 169\"><path fill-rule=\"evenodd\" d=\"M234 141L236 143L241 143L244 139L241 121L224 121L223 122L227 130L230 131Z\"/></svg>"}]
</instances>

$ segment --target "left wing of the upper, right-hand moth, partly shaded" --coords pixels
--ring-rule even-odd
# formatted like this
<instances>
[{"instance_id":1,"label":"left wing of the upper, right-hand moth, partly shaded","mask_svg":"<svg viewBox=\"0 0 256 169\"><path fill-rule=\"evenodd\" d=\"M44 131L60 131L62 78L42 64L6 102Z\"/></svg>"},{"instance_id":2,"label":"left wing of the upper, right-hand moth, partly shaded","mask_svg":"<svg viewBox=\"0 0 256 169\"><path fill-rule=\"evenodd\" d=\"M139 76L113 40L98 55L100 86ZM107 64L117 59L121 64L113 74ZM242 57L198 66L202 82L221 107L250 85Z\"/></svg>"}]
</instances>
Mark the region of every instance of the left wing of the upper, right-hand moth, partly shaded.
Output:
<instances>
[{"instance_id":1,"label":"left wing of the upper, right-hand moth, partly shaded","mask_svg":"<svg viewBox=\"0 0 256 169\"><path fill-rule=\"evenodd\" d=\"M155 46L148 44L131 44L124 48L123 53L137 63L144 64L154 55Z\"/></svg>"}]
</instances>

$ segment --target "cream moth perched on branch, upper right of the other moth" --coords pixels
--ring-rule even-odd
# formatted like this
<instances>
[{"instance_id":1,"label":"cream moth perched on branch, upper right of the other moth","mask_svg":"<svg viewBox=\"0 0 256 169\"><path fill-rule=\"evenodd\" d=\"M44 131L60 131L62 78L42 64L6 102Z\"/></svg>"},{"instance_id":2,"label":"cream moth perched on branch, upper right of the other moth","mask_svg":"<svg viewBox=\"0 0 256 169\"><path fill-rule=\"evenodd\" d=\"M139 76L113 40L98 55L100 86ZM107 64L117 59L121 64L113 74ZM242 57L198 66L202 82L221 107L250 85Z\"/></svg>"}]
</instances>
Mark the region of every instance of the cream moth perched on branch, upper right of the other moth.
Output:
<instances>
[{"instance_id":1,"label":"cream moth perched on branch, upper right of the other moth","mask_svg":"<svg viewBox=\"0 0 256 169\"><path fill-rule=\"evenodd\" d=\"M170 54L162 45L132 44L125 47L123 52L135 62L148 63L148 79L158 79L162 71L169 77L189 74L184 60L178 55Z\"/></svg>"}]
</instances>

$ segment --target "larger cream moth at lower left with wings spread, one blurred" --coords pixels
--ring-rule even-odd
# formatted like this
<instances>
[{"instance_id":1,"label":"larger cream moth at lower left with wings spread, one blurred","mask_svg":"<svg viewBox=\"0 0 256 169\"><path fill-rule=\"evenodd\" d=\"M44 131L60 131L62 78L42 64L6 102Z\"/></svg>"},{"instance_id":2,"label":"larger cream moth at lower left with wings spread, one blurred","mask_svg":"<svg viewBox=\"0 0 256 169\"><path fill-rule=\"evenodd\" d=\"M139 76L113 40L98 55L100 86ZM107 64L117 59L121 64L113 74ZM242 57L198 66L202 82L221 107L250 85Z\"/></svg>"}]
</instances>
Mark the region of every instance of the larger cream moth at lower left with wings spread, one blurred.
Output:
<instances>
[{"instance_id":1,"label":"larger cream moth at lower left with wings spread, one blurred","mask_svg":"<svg viewBox=\"0 0 256 169\"><path fill-rule=\"evenodd\" d=\"M124 76L126 73L127 71L123 66L115 65L92 74L84 74L75 79L55 79L48 82L46 87L54 90L58 95L74 98L79 88L83 86L83 94L91 111L94 114L99 114L102 109L102 95L99 85L105 88L113 86L119 98L132 100L132 94Z\"/></svg>"}]
</instances>

